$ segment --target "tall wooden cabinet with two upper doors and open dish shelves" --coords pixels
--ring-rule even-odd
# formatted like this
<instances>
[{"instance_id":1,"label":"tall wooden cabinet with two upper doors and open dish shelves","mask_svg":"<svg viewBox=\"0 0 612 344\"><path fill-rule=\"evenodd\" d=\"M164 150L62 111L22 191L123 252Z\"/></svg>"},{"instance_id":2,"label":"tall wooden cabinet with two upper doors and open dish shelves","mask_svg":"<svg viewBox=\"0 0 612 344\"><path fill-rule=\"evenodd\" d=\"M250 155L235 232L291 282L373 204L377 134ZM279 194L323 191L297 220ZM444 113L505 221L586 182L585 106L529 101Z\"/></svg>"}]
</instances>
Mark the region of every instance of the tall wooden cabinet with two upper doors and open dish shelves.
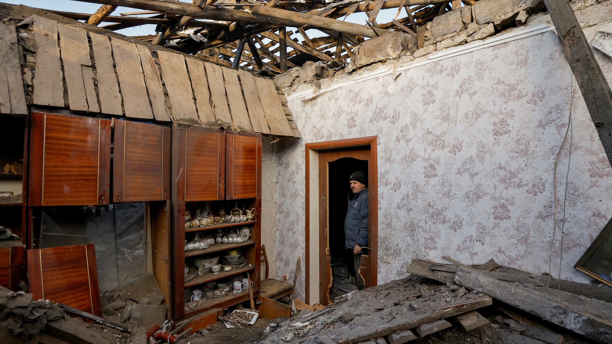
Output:
<instances>
[{"instance_id":1,"label":"tall wooden cabinet with two upper doors and open dish shelves","mask_svg":"<svg viewBox=\"0 0 612 344\"><path fill-rule=\"evenodd\" d=\"M261 136L223 132L221 130L173 126L173 166L171 180L176 191L171 197L172 214L172 313L175 320L207 312L214 308L227 308L247 302L248 291L225 293L204 298L195 304L186 302L193 290L204 290L218 283L229 283L247 277L253 282L255 297L259 294L261 255ZM176 164L176 165L174 165ZM176 192L176 193L174 193ZM230 195L231 194L231 195ZM233 208L255 209L252 219L244 222L215 222L195 225L198 217L231 214ZM237 211L237 209L234 209ZM223 236L237 233L240 228L252 228L246 241L215 242L206 248L188 249L185 242L196 236ZM249 230L251 231L251 230ZM230 271L202 271L186 279L185 268L193 274L196 261L216 259L223 261L230 250L240 250L241 263ZM244 260L243 260L244 259Z\"/></svg>"}]
</instances>

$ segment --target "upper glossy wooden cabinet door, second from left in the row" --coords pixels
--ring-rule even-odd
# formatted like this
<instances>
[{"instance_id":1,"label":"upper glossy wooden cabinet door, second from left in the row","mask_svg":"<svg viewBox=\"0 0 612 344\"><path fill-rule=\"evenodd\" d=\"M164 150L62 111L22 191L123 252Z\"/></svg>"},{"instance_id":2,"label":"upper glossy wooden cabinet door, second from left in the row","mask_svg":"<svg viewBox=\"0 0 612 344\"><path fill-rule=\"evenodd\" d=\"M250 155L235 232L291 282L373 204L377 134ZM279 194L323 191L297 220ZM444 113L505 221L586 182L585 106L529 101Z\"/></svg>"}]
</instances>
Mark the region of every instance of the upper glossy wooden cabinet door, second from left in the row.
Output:
<instances>
[{"instance_id":1,"label":"upper glossy wooden cabinet door, second from left in the row","mask_svg":"<svg viewBox=\"0 0 612 344\"><path fill-rule=\"evenodd\" d=\"M114 124L113 202L170 199L170 128Z\"/></svg>"}]
</instances>

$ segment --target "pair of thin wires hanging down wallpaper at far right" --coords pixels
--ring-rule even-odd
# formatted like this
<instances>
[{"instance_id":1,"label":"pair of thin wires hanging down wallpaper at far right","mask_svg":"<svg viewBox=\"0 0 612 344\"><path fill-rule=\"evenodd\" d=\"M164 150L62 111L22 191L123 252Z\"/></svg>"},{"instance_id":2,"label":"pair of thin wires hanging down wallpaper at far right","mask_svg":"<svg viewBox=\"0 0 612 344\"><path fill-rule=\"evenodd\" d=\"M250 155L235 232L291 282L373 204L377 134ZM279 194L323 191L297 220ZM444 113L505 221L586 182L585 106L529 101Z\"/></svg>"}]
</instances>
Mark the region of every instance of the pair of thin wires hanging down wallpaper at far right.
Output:
<instances>
[{"instance_id":1,"label":"pair of thin wires hanging down wallpaper at far right","mask_svg":"<svg viewBox=\"0 0 612 344\"><path fill-rule=\"evenodd\" d=\"M559 166L559 160L561 159L561 152L563 151L563 147L565 146L565 141L567 140L567 135L572 130L572 136L570 137L570 151L569 151L569 159L567 162L567 174L565 175L565 195L563 199L563 218L562 218L562 226L561 226L561 260L563 258L563 231L565 228L565 200L567 198L567 181L569 178L569 170L570 170L570 161L572 159L572 142L573 142L573 123L572 123L572 106L573 106L573 73L570 78L570 111L569 111L569 120L567 125L567 130L565 130L565 136L563 137L563 141L561 142L561 146L559 146L559 152L557 153L557 159L554 160L554 171L553 171L553 187L554 187L554 213L553 213L553 237L550 242L550 255L548 256L548 281L546 286L550 285L550 279L552 277L552 264L553 264L553 248L554 248L554 237L556 237L557 233L557 167ZM559 288L561 287L561 260L559 261Z\"/></svg>"}]
</instances>

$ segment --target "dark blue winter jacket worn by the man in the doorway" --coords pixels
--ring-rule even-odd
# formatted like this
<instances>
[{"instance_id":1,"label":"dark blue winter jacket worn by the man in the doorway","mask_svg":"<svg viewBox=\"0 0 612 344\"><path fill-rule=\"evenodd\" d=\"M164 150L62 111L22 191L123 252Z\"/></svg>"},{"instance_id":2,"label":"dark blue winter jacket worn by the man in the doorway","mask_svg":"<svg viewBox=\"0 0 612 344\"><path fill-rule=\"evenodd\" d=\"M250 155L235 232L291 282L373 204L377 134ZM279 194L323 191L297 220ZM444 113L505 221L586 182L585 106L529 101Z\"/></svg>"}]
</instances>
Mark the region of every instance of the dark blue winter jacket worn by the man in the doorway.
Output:
<instances>
[{"instance_id":1,"label":"dark blue winter jacket worn by the man in the doorway","mask_svg":"<svg viewBox=\"0 0 612 344\"><path fill-rule=\"evenodd\" d=\"M346 247L368 246L368 188L357 192L348 206L345 219Z\"/></svg>"}]
</instances>

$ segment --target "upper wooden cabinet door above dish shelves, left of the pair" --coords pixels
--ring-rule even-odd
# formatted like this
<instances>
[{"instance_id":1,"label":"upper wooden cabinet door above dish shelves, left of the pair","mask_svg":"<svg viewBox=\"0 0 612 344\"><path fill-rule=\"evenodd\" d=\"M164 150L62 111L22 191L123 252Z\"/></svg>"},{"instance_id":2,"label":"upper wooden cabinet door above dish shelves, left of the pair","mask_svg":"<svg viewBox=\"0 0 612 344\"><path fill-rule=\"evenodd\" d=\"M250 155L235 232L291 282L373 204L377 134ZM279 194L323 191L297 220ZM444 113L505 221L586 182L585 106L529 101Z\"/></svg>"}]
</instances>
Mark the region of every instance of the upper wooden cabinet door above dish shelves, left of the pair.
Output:
<instances>
[{"instance_id":1,"label":"upper wooden cabinet door above dish shelves, left of the pair","mask_svg":"<svg viewBox=\"0 0 612 344\"><path fill-rule=\"evenodd\" d=\"M177 129L177 201L225 196L225 135L221 130Z\"/></svg>"}]
</instances>

